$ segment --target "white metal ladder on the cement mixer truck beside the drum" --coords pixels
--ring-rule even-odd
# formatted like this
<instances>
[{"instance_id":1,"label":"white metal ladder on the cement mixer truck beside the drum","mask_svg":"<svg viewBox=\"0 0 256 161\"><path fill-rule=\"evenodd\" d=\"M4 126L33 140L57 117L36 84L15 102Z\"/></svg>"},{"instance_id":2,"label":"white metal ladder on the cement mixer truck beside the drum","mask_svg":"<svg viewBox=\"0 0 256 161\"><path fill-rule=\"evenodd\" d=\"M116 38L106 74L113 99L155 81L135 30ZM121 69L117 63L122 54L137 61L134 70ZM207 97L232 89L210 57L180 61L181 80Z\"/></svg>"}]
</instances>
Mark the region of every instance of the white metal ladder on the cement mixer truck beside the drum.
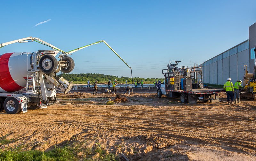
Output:
<instances>
[{"instance_id":1,"label":"white metal ladder on the cement mixer truck beside the drum","mask_svg":"<svg viewBox=\"0 0 256 161\"><path fill-rule=\"evenodd\" d=\"M35 84L36 84L36 71L28 70L27 74L27 84L26 93L35 94Z\"/></svg>"}]
</instances>

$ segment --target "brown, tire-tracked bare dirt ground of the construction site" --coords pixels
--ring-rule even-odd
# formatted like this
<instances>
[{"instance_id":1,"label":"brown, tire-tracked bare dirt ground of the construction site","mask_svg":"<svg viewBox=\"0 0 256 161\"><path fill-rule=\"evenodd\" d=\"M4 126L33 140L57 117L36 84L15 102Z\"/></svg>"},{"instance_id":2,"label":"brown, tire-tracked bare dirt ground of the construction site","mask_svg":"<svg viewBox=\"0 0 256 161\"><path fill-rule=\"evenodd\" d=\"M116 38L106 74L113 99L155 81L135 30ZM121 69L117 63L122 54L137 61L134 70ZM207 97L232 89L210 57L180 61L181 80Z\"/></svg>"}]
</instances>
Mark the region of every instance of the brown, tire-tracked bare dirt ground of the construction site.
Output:
<instances>
[{"instance_id":1,"label":"brown, tire-tracked bare dirt ground of the construction site","mask_svg":"<svg viewBox=\"0 0 256 161\"><path fill-rule=\"evenodd\" d=\"M127 102L106 105L115 95L103 90L92 95L92 89L85 89L59 99L76 97L92 103L56 104L17 115L3 111L0 137L12 142L0 149L25 145L24 150L51 150L68 142L80 147L100 144L120 160L123 153L130 161L256 160L256 102L189 105L157 98L155 91L135 89L125 95ZM221 97L225 101L225 93Z\"/></svg>"}]
</instances>

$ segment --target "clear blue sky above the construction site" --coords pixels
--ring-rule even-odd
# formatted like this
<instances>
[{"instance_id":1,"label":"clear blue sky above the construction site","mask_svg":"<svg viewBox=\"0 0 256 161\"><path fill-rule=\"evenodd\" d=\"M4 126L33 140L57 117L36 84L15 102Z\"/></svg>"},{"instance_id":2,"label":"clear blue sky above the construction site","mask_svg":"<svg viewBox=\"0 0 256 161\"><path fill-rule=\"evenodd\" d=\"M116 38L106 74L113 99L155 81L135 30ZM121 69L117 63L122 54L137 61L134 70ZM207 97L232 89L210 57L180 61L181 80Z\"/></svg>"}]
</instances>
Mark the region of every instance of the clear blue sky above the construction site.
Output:
<instances>
[{"instance_id":1,"label":"clear blue sky above the construction site","mask_svg":"<svg viewBox=\"0 0 256 161\"><path fill-rule=\"evenodd\" d=\"M248 39L248 27L256 22L254 5L253 0L3 1L0 43L33 36L69 51L105 40L132 67L134 77L163 78L169 60L200 64ZM17 43L0 54L47 49ZM131 76L103 43L71 57L72 73Z\"/></svg>"}]
</instances>

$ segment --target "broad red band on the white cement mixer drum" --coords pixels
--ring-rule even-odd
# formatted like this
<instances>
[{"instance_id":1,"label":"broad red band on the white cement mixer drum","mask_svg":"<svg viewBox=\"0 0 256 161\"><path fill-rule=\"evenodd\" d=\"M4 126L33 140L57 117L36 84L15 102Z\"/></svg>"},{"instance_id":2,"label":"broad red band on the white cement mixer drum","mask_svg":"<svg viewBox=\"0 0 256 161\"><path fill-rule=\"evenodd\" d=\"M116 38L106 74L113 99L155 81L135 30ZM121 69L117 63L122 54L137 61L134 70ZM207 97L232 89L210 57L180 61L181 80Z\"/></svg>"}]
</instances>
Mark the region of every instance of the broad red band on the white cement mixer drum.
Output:
<instances>
[{"instance_id":1,"label":"broad red band on the white cement mixer drum","mask_svg":"<svg viewBox=\"0 0 256 161\"><path fill-rule=\"evenodd\" d=\"M9 58L12 54L13 53L6 53L0 55L0 87L7 92L15 92L23 88L12 79L9 71Z\"/></svg>"}]
</instances>

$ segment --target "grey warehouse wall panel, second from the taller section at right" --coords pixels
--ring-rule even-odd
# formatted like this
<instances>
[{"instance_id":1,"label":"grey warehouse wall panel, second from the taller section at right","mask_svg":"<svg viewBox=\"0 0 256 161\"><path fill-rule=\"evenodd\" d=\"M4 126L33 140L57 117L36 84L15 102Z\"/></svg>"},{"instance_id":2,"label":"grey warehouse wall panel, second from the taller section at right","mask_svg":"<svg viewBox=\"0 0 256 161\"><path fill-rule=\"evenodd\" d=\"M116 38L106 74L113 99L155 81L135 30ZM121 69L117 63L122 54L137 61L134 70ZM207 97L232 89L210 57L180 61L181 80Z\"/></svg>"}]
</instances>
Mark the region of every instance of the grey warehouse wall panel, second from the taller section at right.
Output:
<instances>
[{"instance_id":1,"label":"grey warehouse wall panel, second from the taller section at right","mask_svg":"<svg viewBox=\"0 0 256 161\"><path fill-rule=\"evenodd\" d=\"M235 82L238 79L238 73L237 73L237 54L234 54L229 57L229 77L231 78L231 81Z\"/></svg>"}]
</instances>

